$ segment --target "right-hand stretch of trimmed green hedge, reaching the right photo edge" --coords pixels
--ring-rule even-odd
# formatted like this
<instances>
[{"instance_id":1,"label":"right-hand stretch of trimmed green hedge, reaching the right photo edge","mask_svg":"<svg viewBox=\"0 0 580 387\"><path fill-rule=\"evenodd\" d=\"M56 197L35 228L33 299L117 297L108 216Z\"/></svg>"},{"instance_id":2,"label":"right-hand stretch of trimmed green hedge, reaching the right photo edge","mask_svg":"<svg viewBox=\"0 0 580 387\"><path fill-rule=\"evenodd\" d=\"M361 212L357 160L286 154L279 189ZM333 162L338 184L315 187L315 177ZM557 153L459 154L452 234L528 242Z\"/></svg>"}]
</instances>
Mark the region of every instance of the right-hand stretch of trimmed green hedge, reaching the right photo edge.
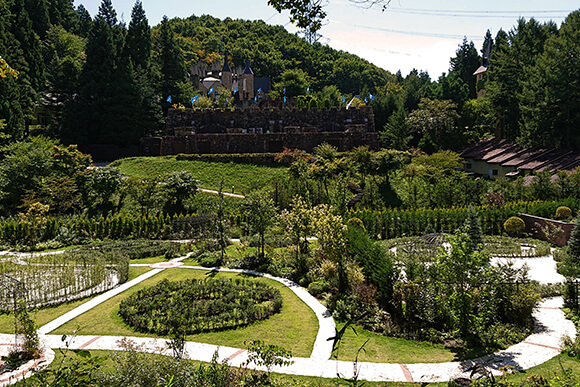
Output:
<instances>
[{"instance_id":1,"label":"right-hand stretch of trimmed green hedge, reaching the right photo edge","mask_svg":"<svg viewBox=\"0 0 580 387\"><path fill-rule=\"evenodd\" d=\"M503 223L511 216L526 213L542 217L554 217L559 206L568 206L574 212L580 208L580 199L569 198L554 202L515 202L504 206L474 207L481 220L481 228L486 235L503 233ZM468 207L452 208L419 208L409 210L389 209L371 211L367 209L351 210L345 217L359 218L367 231L379 239L392 239L405 236L423 235L431 232L453 233L460 228L467 218Z\"/></svg>"}]
</instances>

